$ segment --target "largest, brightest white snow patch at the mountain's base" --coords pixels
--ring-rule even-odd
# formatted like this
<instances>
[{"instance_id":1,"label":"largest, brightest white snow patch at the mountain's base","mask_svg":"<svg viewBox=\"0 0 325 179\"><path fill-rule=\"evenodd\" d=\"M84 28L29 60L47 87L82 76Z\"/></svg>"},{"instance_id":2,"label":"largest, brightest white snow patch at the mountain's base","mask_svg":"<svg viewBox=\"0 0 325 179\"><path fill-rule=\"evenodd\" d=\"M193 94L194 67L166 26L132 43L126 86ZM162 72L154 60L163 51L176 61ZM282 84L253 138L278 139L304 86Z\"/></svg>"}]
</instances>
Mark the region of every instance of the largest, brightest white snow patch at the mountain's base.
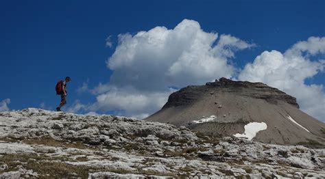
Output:
<instances>
[{"instance_id":1,"label":"largest, brightest white snow patch at the mountain's base","mask_svg":"<svg viewBox=\"0 0 325 179\"><path fill-rule=\"evenodd\" d=\"M256 133L261 130L267 129L267 125L265 122L250 122L249 124L246 124L244 128L245 133L237 133L234 135L234 137L246 138L250 141L256 136Z\"/></svg>"}]
</instances>

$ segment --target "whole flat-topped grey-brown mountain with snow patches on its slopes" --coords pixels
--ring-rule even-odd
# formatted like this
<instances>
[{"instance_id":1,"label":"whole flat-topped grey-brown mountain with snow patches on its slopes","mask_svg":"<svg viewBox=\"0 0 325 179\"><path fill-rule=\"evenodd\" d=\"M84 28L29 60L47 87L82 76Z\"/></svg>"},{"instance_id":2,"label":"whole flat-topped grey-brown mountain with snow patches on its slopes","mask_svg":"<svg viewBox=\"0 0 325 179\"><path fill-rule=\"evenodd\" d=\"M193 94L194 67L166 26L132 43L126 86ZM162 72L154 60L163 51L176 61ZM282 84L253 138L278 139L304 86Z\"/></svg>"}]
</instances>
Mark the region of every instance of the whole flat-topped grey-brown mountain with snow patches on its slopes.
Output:
<instances>
[{"instance_id":1,"label":"whole flat-topped grey-brown mountain with snow patches on its slopes","mask_svg":"<svg viewBox=\"0 0 325 179\"><path fill-rule=\"evenodd\" d=\"M293 96L264 83L226 78L174 92L145 120L264 143L325 143L325 124L301 111Z\"/></svg>"}]
</instances>

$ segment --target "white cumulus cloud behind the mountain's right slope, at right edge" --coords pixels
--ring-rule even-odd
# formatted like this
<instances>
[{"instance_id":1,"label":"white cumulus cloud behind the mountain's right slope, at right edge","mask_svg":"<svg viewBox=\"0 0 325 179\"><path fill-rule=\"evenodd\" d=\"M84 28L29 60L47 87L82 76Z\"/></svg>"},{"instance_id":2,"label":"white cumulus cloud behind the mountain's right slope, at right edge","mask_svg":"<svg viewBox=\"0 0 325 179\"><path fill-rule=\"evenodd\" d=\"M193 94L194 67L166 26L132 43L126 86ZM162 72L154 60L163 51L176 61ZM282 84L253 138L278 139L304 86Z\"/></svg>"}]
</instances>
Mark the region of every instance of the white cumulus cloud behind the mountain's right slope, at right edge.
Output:
<instances>
[{"instance_id":1,"label":"white cumulus cloud behind the mountain's right slope, at right edge","mask_svg":"<svg viewBox=\"0 0 325 179\"><path fill-rule=\"evenodd\" d=\"M325 38L311 37L297 42L280 53L264 51L239 74L239 80L263 82L295 96L302 111L325 121L325 92L323 85L306 84L306 79L324 72L325 60L311 57L325 53Z\"/></svg>"}]
</instances>

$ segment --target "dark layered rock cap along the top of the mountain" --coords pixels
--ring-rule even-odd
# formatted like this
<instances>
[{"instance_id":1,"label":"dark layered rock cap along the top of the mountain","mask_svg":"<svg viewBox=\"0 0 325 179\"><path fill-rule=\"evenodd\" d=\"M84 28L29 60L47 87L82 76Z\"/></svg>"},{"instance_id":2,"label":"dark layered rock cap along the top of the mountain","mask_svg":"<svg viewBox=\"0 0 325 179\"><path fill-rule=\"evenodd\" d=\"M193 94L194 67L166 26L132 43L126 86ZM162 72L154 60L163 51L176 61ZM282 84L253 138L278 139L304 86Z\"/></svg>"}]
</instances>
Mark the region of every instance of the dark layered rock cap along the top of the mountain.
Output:
<instances>
[{"instance_id":1,"label":"dark layered rock cap along the top of the mountain","mask_svg":"<svg viewBox=\"0 0 325 179\"><path fill-rule=\"evenodd\" d=\"M278 101L287 102L288 104L299 108L296 98L286 94L285 92L281 92L274 87L269 87L263 83L232 81L230 79L221 78L219 81L215 80L215 82L208 82L206 85L191 85L182 88L178 92L174 92L169 96L163 109L168 107L191 105L193 102L200 100L202 96L206 95L206 92L213 94L213 90L216 89L226 93L233 93L234 95L263 99L272 104L278 104Z\"/></svg>"}]
</instances>

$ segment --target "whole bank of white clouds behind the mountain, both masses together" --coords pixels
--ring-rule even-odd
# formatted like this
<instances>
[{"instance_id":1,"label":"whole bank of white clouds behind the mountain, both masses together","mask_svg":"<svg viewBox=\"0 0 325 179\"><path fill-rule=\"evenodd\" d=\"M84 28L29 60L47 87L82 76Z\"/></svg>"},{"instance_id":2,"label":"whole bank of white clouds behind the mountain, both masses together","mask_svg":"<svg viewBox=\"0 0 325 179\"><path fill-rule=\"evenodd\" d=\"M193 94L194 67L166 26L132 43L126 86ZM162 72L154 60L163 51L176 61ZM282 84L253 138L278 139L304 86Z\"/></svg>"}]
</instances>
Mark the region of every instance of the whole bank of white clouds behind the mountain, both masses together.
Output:
<instances>
[{"instance_id":1,"label":"whole bank of white clouds behind the mountain, both masses together","mask_svg":"<svg viewBox=\"0 0 325 179\"><path fill-rule=\"evenodd\" d=\"M100 83L92 90L85 83L80 91L91 92L96 102L88 107L75 105L71 111L87 108L145 118L163 107L176 89L226 77L277 87L295 96L303 111L325 121L324 87L306 84L306 79L324 72L324 59L315 58L324 55L325 38L297 42L285 53L264 51L243 70L231 61L237 51L255 44L206 32L195 20L182 20L173 29L154 27L118 38L115 52L106 61L113 72L110 83Z\"/></svg>"}]
</instances>

